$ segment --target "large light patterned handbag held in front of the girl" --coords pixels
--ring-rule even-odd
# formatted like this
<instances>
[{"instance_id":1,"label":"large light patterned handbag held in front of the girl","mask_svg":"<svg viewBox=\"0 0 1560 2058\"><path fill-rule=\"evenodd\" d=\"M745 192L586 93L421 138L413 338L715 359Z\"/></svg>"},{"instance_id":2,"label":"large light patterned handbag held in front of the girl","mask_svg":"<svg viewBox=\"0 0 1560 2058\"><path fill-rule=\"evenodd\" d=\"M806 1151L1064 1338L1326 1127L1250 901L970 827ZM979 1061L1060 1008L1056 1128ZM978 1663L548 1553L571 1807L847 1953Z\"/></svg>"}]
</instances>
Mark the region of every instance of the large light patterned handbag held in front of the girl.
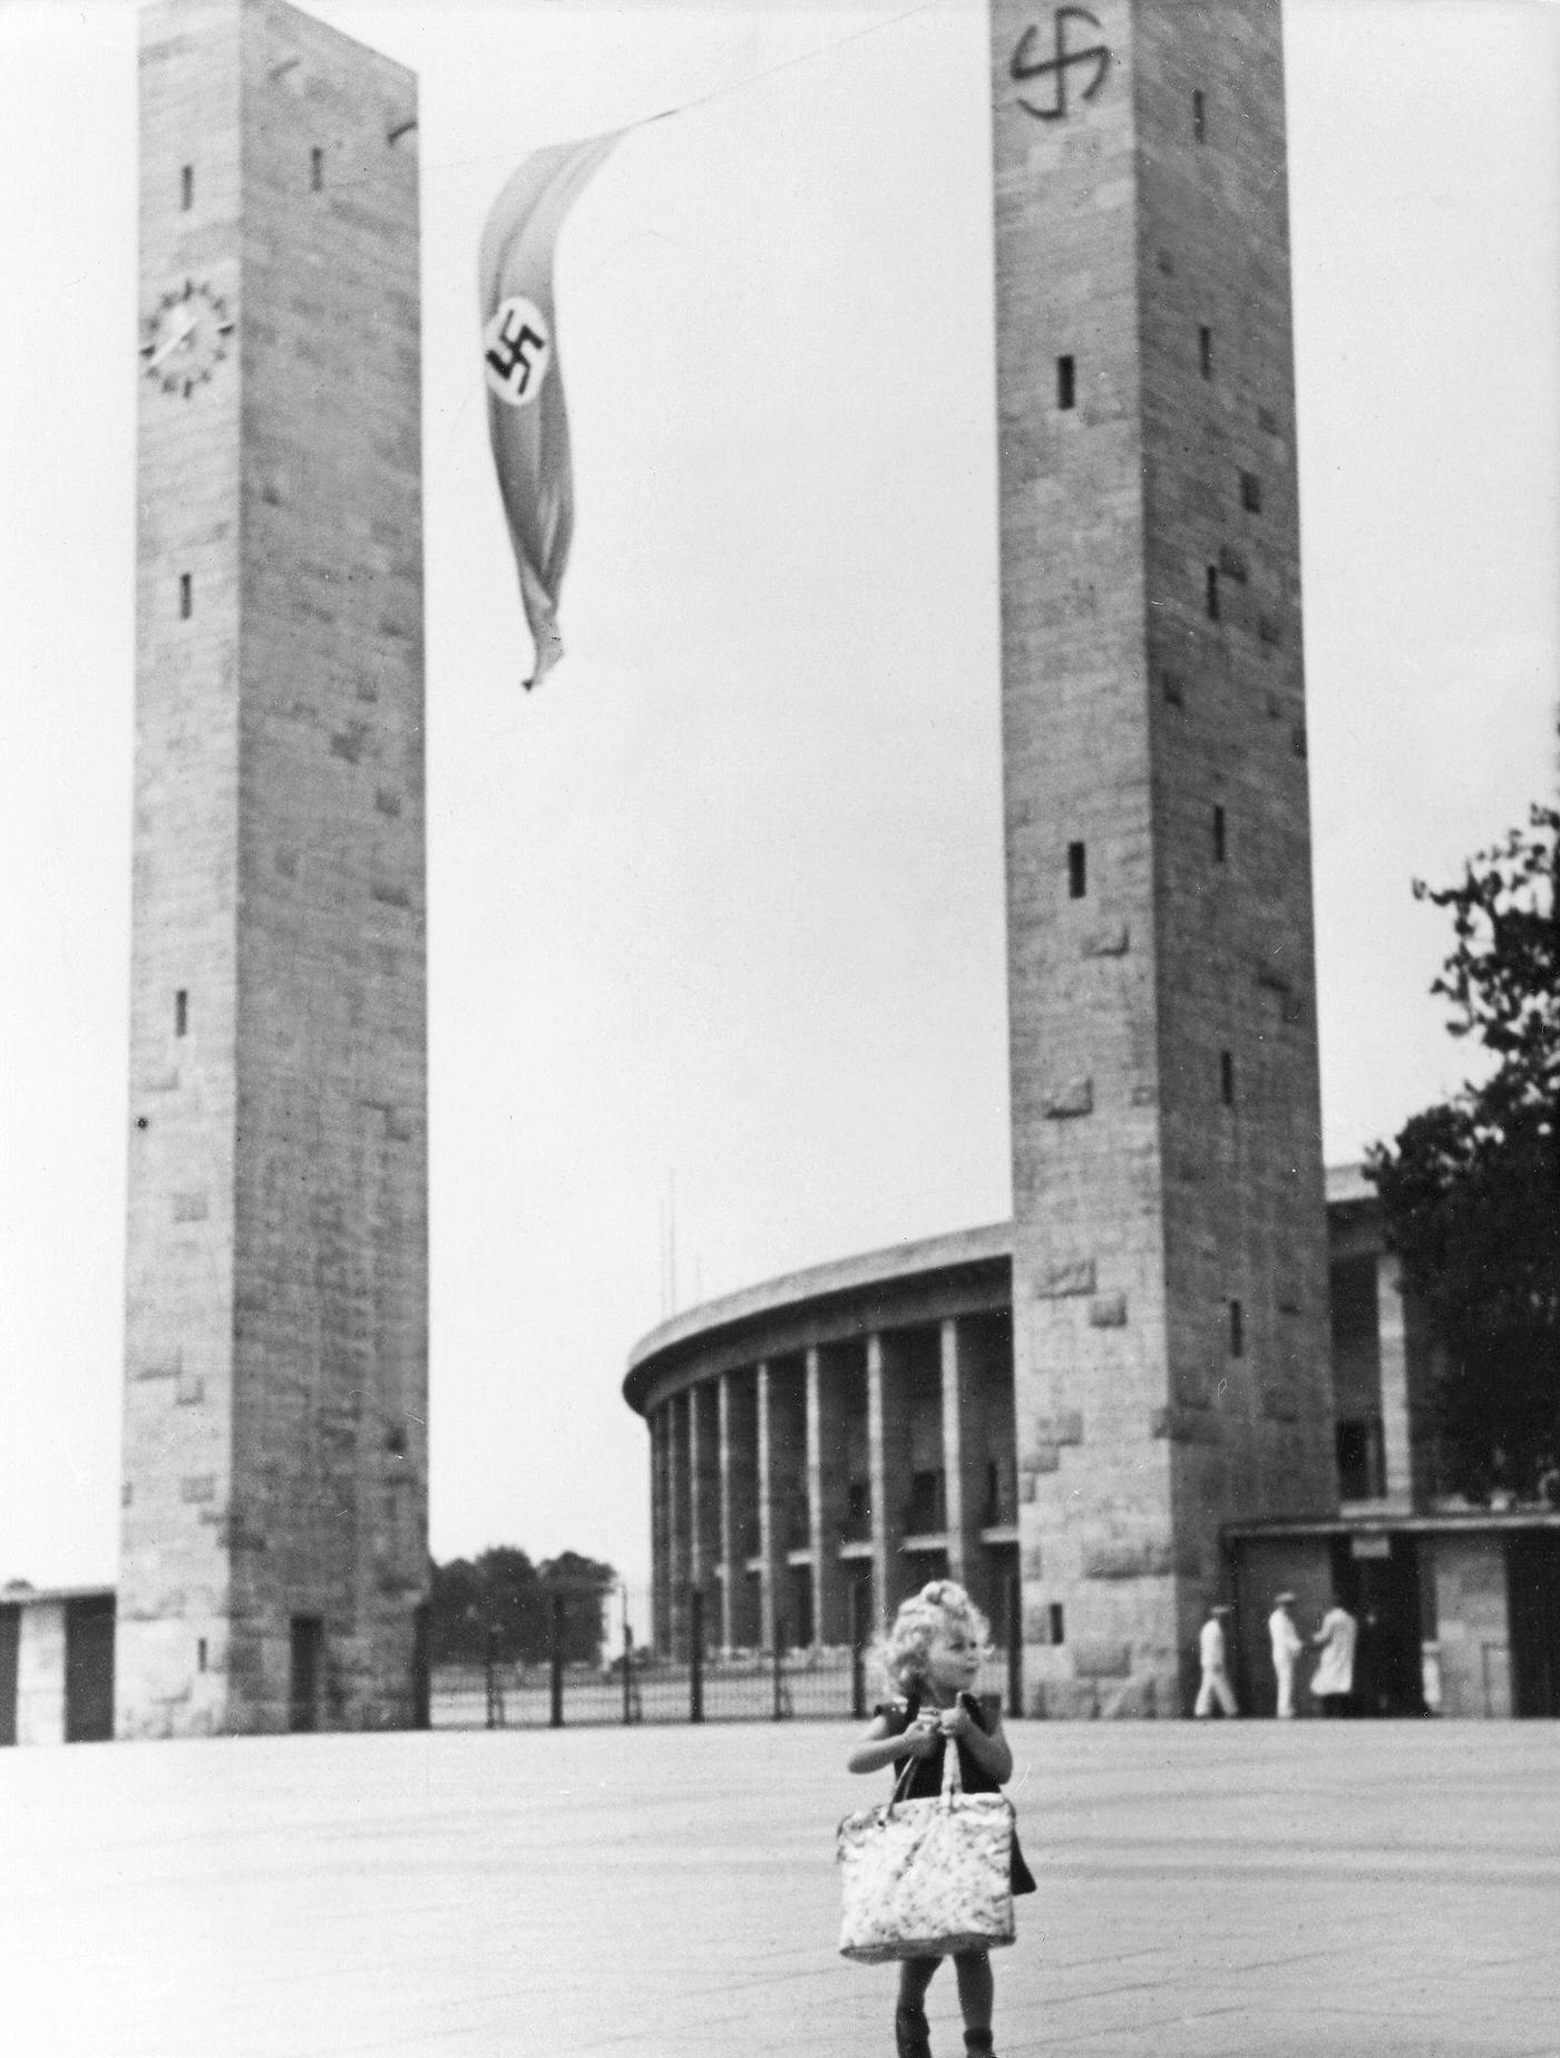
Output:
<instances>
[{"instance_id":1,"label":"large light patterned handbag held in front of the girl","mask_svg":"<svg viewBox=\"0 0 1560 2058\"><path fill-rule=\"evenodd\" d=\"M908 1758L893 1799L846 1815L836 1836L840 1951L862 1965L1013 1943L1013 1803L963 1790L953 1737L941 1795L901 1801L914 1770Z\"/></svg>"}]
</instances>

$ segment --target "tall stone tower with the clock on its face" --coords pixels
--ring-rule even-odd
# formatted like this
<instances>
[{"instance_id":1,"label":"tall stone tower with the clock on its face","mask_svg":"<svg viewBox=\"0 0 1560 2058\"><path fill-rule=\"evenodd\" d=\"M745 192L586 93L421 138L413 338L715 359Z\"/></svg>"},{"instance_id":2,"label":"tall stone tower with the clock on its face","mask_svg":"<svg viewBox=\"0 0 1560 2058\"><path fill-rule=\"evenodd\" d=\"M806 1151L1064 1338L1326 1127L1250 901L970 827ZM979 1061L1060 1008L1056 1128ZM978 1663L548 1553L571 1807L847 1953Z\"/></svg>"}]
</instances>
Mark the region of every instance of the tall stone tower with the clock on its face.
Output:
<instances>
[{"instance_id":1,"label":"tall stone tower with the clock on its face","mask_svg":"<svg viewBox=\"0 0 1560 2058\"><path fill-rule=\"evenodd\" d=\"M121 1735L420 1716L416 82L278 0L140 43Z\"/></svg>"}]
</instances>

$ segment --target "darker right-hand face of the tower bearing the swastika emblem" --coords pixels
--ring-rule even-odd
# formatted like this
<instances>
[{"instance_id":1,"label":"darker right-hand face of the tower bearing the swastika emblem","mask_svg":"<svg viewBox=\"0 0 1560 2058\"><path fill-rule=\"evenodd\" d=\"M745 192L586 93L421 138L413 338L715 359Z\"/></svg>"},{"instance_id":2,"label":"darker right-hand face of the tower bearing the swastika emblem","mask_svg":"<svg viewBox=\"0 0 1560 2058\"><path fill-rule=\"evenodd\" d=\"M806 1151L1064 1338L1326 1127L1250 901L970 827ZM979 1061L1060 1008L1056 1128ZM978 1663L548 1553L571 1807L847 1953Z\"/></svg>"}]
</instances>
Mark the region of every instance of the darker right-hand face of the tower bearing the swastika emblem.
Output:
<instances>
[{"instance_id":1,"label":"darker right-hand face of the tower bearing the swastika emblem","mask_svg":"<svg viewBox=\"0 0 1560 2058\"><path fill-rule=\"evenodd\" d=\"M1278 0L1140 8L1134 78L1185 1648L1220 1519L1336 1506Z\"/></svg>"}]
</instances>

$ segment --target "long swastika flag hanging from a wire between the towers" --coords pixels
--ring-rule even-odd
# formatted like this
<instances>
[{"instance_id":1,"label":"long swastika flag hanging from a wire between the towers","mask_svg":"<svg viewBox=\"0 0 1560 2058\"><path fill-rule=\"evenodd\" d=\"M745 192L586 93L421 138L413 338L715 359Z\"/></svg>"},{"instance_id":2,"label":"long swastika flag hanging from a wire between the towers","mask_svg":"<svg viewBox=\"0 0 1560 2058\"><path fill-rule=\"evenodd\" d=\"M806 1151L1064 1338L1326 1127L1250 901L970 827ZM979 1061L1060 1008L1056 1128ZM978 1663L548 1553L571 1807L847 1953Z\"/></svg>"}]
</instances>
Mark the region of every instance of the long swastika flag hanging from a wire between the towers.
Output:
<instances>
[{"instance_id":1,"label":"long swastika flag hanging from a wire between the towers","mask_svg":"<svg viewBox=\"0 0 1560 2058\"><path fill-rule=\"evenodd\" d=\"M568 410L552 307L554 245L564 216L619 136L622 130L560 142L527 156L482 230L488 436L537 652L527 687L539 685L564 654L558 597L574 535Z\"/></svg>"}]
</instances>

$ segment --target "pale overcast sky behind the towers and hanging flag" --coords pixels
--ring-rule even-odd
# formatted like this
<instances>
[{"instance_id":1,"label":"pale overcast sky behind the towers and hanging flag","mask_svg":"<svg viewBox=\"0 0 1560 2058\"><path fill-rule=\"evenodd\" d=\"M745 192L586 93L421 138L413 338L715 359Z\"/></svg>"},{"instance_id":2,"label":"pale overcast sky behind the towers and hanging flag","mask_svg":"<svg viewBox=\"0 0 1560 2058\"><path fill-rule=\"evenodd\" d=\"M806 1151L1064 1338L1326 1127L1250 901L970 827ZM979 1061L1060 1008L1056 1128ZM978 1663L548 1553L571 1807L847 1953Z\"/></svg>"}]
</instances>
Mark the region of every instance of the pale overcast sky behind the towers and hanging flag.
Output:
<instances>
[{"instance_id":1,"label":"pale overcast sky behind the towers and hanging flag","mask_svg":"<svg viewBox=\"0 0 1560 2058\"><path fill-rule=\"evenodd\" d=\"M440 1558L648 1576L673 1307L1002 1220L980 0L319 0L420 74ZM136 8L0 0L0 1583L115 1572ZM1325 1155L1469 1054L1443 881L1556 786L1560 8L1286 0ZM539 694L475 249L564 230L578 529Z\"/></svg>"}]
</instances>

